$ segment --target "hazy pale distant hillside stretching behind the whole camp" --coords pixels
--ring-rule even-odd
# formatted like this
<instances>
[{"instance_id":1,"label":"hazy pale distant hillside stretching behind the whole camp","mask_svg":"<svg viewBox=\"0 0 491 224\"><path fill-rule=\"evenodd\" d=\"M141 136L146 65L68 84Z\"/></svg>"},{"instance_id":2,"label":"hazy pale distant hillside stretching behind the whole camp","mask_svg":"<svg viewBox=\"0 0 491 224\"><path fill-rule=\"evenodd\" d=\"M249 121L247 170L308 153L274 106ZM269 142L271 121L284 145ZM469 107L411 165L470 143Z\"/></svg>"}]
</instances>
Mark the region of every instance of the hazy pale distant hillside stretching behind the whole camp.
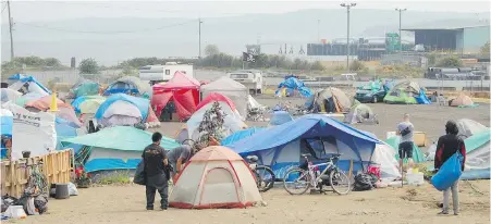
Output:
<instances>
[{"instance_id":1,"label":"hazy pale distant hillside stretching behind the whole camp","mask_svg":"<svg viewBox=\"0 0 491 224\"><path fill-rule=\"evenodd\" d=\"M391 10L357 10L351 14L353 37L381 37L398 29L398 14ZM445 20L477 20L474 13L412 12L403 14L403 27ZM479 15L480 18L489 14ZM317 41L317 21L321 20L321 38L345 38L346 12L340 10L302 10L284 14L248 14L232 17L202 18L201 43L216 43L220 50L238 55L246 43L260 36L263 51L277 53L280 45ZM76 32L70 32L76 30ZM95 34L106 33L106 34ZM50 23L17 24L15 52L59 58L69 63L71 57L95 58L103 64L134 57L196 57L198 22L189 18L77 18ZM2 58L9 59L7 26L2 26Z\"/></svg>"}]
</instances>

